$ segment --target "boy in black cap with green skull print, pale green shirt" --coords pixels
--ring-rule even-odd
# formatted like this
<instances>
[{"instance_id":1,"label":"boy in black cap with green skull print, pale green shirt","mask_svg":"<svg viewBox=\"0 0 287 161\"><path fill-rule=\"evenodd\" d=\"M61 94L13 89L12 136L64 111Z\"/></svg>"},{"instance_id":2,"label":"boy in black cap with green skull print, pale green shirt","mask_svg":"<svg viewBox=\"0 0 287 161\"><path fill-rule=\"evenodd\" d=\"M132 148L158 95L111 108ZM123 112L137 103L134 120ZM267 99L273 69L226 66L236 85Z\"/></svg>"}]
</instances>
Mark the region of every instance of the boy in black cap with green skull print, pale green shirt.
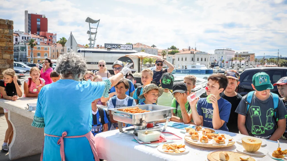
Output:
<instances>
[{"instance_id":1,"label":"boy in black cap with green skull print, pale green shirt","mask_svg":"<svg viewBox=\"0 0 287 161\"><path fill-rule=\"evenodd\" d=\"M158 97L158 102L157 102L158 105L171 107L173 96L170 90L172 90L173 80L174 80L174 77L172 74L170 73L162 74L162 78L160 79L160 84L161 84L161 88L164 89L164 91L162 95Z\"/></svg>"}]
</instances>

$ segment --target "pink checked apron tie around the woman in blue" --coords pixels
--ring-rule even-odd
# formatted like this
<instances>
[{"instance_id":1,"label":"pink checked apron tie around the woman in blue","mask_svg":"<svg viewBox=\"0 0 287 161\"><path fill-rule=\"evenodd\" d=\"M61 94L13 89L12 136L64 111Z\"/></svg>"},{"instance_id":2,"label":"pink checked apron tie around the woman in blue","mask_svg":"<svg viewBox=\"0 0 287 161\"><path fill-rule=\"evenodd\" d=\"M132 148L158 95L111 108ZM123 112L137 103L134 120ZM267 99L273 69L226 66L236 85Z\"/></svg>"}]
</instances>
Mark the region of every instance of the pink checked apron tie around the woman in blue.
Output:
<instances>
[{"instance_id":1,"label":"pink checked apron tie around the woman in blue","mask_svg":"<svg viewBox=\"0 0 287 161\"><path fill-rule=\"evenodd\" d=\"M79 135L79 136L67 136L66 131L64 131L62 133L62 136L55 136L55 135L49 135L49 134L46 134L46 136L59 138L57 144L60 145L60 154L61 154L61 160L62 161L65 161L64 138L83 138L83 137L86 137L88 139L90 146L91 146L91 149L92 149L92 152L93 152L94 157L95 157L95 161L99 160L99 157L97 154L97 149L96 149L96 143L94 141L94 135L91 131L86 133L85 135ZM43 141L43 148L42 148L42 154L41 154L40 161L43 160L43 152L44 152L44 141Z\"/></svg>"}]
</instances>

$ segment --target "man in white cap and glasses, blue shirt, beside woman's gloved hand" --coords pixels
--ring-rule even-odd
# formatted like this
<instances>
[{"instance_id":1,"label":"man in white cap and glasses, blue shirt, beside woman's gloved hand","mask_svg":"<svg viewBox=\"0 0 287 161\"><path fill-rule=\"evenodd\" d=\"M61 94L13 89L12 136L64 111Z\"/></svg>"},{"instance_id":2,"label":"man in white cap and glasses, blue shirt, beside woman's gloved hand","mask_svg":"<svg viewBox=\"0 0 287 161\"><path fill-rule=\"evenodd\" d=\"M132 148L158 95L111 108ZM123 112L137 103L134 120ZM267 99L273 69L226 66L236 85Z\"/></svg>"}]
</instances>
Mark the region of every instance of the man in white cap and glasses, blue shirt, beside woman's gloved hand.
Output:
<instances>
[{"instance_id":1,"label":"man in white cap and glasses, blue shirt, beside woman's gloved hand","mask_svg":"<svg viewBox=\"0 0 287 161\"><path fill-rule=\"evenodd\" d=\"M123 66L124 66L124 64L120 60L117 60L114 62L114 64L112 65L112 68L114 70L115 75L118 74L123 69ZM131 80L129 80L129 79L126 79L126 80L129 82L129 90L126 92L126 95L133 97L135 87L134 87L133 83L131 82ZM110 89L110 93L115 92L115 91L116 91L115 87L112 87Z\"/></svg>"}]
</instances>

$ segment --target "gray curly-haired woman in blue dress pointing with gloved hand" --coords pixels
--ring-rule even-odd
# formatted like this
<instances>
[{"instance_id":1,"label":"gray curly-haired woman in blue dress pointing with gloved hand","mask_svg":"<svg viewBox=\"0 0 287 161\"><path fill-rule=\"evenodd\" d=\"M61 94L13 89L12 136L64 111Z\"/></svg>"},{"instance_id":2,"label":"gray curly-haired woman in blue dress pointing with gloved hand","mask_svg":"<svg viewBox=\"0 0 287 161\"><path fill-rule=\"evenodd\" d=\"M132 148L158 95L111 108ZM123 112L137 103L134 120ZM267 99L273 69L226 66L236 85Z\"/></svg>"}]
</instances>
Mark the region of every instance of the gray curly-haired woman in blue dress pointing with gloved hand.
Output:
<instances>
[{"instance_id":1,"label":"gray curly-haired woman in blue dress pointing with gloved hand","mask_svg":"<svg viewBox=\"0 0 287 161\"><path fill-rule=\"evenodd\" d=\"M83 56L76 53L59 56L56 71L63 79L42 87L32 122L32 126L44 128L46 134L40 160L65 161L65 157L69 161L99 160L91 132L91 103L108 97L109 89L131 72L131 65L102 82L79 82L87 70Z\"/></svg>"}]
</instances>

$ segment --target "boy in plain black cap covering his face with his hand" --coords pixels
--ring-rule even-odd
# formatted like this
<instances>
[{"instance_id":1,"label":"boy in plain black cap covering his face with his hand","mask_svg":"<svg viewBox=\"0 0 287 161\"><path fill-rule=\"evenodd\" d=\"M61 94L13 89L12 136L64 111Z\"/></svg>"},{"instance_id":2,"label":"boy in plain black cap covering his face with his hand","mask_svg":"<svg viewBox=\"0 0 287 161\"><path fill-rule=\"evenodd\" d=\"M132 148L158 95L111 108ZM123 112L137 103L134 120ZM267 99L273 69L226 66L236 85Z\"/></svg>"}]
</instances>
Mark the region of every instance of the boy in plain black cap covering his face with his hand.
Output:
<instances>
[{"instance_id":1,"label":"boy in plain black cap covering his face with his hand","mask_svg":"<svg viewBox=\"0 0 287 161\"><path fill-rule=\"evenodd\" d=\"M173 109L170 121L189 123L192 120L192 114L190 110L189 102L187 101L187 87L183 82L176 82L172 87L172 94L174 98L172 99L171 107Z\"/></svg>"}]
</instances>

